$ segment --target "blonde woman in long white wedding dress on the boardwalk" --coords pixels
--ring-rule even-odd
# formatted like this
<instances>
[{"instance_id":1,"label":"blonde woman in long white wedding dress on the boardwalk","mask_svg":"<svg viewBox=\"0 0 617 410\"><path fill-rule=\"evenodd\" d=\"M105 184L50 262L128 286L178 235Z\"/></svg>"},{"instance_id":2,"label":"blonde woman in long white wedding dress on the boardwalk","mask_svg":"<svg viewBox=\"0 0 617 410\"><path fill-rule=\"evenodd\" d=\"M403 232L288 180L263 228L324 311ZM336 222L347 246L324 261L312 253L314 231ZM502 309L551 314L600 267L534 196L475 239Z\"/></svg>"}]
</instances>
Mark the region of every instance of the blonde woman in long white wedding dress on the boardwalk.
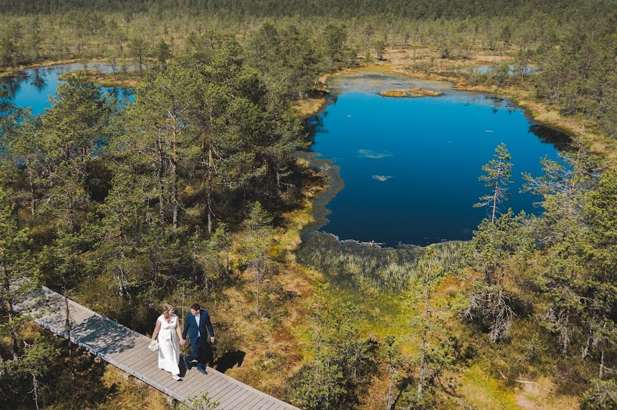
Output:
<instances>
[{"instance_id":1,"label":"blonde woman in long white wedding dress on the boardwalk","mask_svg":"<svg viewBox=\"0 0 617 410\"><path fill-rule=\"evenodd\" d=\"M163 314L156 319L152 339L158 336L158 368L171 373L175 380L180 380L180 345L184 344L178 316L173 313L171 304L163 305Z\"/></svg>"}]
</instances>

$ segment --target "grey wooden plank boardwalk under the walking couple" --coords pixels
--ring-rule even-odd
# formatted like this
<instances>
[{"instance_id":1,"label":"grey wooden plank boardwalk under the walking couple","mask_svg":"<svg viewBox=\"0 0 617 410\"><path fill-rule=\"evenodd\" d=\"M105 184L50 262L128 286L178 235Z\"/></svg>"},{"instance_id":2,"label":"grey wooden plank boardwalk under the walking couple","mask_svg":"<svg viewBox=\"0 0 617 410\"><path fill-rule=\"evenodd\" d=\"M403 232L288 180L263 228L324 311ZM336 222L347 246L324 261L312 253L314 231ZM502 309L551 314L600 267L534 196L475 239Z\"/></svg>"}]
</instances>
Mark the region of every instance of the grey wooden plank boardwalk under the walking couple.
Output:
<instances>
[{"instance_id":1,"label":"grey wooden plank boardwalk under the walking couple","mask_svg":"<svg viewBox=\"0 0 617 410\"><path fill-rule=\"evenodd\" d=\"M34 300L38 300L36 306ZM69 305L73 343L176 400L184 401L207 392L210 400L219 403L216 409L221 410L296 409L210 367L206 367L208 374L202 374L195 367L186 370L181 364L182 381L175 381L171 374L158 368L158 354L147 348L152 339L73 300L69 300ZM66 337L65 307L60 294L43 287L38 297L33 298L29 306L21 306L21 309L38 312L34 319L36 323Z\"/></svg>"}]
</instances>

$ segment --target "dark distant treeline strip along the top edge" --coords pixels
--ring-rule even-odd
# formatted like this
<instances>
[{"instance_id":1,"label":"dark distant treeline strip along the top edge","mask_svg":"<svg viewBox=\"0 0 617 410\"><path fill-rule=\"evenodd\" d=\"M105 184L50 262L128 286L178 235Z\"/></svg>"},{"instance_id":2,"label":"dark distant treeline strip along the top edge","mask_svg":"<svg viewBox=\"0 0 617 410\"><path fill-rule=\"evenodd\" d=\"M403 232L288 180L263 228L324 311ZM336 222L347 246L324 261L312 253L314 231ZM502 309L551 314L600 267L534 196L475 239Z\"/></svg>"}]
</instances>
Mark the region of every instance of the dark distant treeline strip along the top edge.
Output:
<instances>
[{"instance_id":1,"label":"dark distant treeline strip along the top edge","mask_svg":"<svg viewBox=\"0 0 617 410\"><path fill-rule=\"evenodd\" d=\"M234 16L335 16L351 18L359 16L399 16L404 19L437 19L439 17L466 16L522 16L531 11L543 11L555 15L570 12L592 12L612 10L614 3L606 0L594 1L452 1L452 0L291 0L280 2L250 0L47 0L22 1L14 4L10 0L0 2L0 12L7 14L50 14L69 10L97 10L103 12L167 12L171 8L180 12L224 12Z\"/></svg>"}]
</instances>

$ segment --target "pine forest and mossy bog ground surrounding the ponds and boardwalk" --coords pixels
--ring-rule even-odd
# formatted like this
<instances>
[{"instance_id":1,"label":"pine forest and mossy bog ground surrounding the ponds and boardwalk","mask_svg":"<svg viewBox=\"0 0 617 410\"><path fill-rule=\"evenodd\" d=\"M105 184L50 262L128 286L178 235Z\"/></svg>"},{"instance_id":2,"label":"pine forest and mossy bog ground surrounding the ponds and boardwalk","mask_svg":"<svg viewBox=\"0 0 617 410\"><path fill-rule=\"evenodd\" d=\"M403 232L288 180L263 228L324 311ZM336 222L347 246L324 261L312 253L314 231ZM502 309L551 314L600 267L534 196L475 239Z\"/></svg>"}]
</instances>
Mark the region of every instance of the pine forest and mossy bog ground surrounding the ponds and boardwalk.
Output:
<instances>
[{"instance_id":1,"label":"pine forest and mossy bog ground surrounding the ponds and boardwalk","mask_svg":"<svg viewBox=\"0 0 617 410\"><path fill-rule=\"evenodd\" d=\"M167 407L20 315L43 284L141 333L202 302L211 364L303 409L616 408L616 22L600 0L0 0L1 406ZM14 106L23 66L89 60L135 101L79 72L43 114ZM577 134L524 176L544 215L508 210L500 145L477 205L503 213L471 241L301 238L328 180L296 155L298 104L372 64Z\"/></svg>"}]
</instances>

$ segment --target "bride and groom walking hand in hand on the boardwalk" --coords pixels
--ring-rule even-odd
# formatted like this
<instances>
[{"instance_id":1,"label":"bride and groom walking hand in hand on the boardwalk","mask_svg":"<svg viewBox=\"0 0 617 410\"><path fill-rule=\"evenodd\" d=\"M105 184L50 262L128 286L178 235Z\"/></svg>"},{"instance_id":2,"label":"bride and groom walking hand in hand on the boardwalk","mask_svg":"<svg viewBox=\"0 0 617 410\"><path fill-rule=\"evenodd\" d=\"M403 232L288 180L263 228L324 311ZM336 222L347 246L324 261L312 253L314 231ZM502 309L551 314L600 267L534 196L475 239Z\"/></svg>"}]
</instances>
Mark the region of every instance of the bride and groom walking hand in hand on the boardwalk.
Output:
<instances>
[{"instance_id":1,"label":"bride and groom walking hand in hand on the boardwalk","mask_svg":"<svg viewBox=\"0 0 617 410\"><path fill-rule=\"evenodd\" d=\"M184 356L186 370L191 368L191 362L197 360L197 370L206 374L204 364L199 360L206 348L206 338L210 334L210 343L215 342L214 329L206 309L199 303L191 305L191 311L184 318L184 329L180 333L178 316L173 312L171 304L164 305L163 314L156 319L156 327L152 339L158 338L158 368L171 373L175 380L180 380L180 345L186 343L186 335L191 341L191 354Z\"/></svg>"}]
</instances>

